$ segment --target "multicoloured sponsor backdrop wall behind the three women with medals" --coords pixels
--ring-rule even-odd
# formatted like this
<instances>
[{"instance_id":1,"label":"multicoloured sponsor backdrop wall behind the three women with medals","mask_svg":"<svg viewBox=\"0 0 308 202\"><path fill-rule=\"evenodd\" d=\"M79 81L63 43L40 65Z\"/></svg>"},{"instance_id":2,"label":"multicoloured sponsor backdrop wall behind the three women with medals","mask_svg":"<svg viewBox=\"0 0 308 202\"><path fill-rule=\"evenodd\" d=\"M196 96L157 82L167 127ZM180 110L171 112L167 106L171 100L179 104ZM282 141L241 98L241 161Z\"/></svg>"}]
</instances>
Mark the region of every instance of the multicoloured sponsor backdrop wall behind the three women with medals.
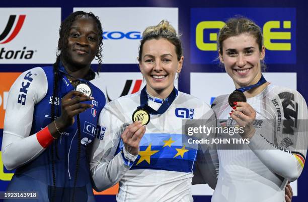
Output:
<instances>
[{"instance_id":1,"label":"multicoloured sponsor backdrop wall behind the three women with medals","mask_svg":"<svg viewBox=\"0 0 308 202\"><path fill-rule=\"evenodd\" d=\"M229 17L247 16L263 29L266 47L265 78L272 83L297 89L307 100L305 50L308 31L305 1L85 1L40 2L1 1L0 3L0 141L10 86L21 72L34 66L55 61L58 29L72 11L91 11L103 25L103 66L94 84L107 99L135 93L145 83L137 65L142 31L168 19L182 36L184 67L175 86L210 104L221 94L234 90L232 80L219 67L217 33ZM93 68L97 69L97 61ZM18 126L18 123L16 123ZM1 161L0 191L6 190L14 171L8 171ZM291 183L292 201L305 200L304 169L300 178ZM98 201L115 201L117 185L95 192ZM195 201L210 201L207 185L193 186ZM0 199L1 200L1 199Z\"/></svg>"}]
</instances>

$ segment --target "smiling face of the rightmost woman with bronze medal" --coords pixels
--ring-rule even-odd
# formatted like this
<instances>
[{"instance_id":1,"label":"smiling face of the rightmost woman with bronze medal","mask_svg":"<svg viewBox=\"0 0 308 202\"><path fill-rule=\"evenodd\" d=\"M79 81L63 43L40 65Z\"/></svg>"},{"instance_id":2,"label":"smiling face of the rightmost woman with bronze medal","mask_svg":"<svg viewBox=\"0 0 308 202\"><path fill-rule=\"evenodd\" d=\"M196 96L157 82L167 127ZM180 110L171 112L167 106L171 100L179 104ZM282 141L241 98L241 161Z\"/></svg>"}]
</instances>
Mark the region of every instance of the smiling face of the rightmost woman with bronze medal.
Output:
<instances>
[{"instance_id":1,"label":"smiling face of the rightmost woman with bronze medal","mask_svg":"<svg viewBox=\"0 0 308 202\"><path fill-rule=\"evenodd\" d=\"M221 46L219 59L236 88L256 84L261 78L265 47L262 46L260 52L256 38L250 33L228 37Z\"/></svg>"}]
</instances>

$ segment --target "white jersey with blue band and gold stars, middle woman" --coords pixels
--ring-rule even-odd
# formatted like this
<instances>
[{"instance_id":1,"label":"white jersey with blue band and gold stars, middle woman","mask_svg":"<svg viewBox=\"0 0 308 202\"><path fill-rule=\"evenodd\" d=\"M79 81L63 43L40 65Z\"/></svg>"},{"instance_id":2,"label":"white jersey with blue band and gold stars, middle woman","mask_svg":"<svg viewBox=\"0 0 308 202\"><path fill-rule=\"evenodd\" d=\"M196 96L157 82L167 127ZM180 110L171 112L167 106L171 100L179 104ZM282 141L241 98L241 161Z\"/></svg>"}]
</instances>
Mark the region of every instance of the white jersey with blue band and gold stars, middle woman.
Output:
<instances>
[{"instance_id":1,"label":"white jersey with blue band and gold stars, middle woman","mask_svg":"<svg viewBox=\"0 0 308 202\"><path fill-rule=\"evenodd\" d=\"M157 110L160 103L148 99L148 105ZM104 190L119 182L117 201L193 201L191 182L199 145L188 143L191 137L182 132L182 125L189 119L211 119L213 111L179 92L166 112L150 116L139 155L133 156L125 150L121 134L138 106L140 93L118 98L103 109L99 124L105 128L104 138L94 140L90 163L95 188ZM215 173L209 167L200 170Z\"/></svg>"}]
</instances>

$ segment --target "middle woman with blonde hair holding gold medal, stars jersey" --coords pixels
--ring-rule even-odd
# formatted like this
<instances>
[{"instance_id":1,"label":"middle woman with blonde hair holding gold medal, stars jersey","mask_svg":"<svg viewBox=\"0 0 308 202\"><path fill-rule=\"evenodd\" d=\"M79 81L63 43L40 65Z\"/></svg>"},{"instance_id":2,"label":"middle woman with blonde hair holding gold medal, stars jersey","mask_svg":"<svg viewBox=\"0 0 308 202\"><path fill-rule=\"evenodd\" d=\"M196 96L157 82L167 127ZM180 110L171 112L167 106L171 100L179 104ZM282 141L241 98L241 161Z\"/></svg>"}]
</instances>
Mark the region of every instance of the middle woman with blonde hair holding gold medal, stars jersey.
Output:
<instances>
[{"instance_id":1,"label":"middle woman with blonde hair holding gold medal, stars jersey","mask_svg":"<svg viewBox=\"0 0 308 202\"><path fill-rule=\"evenodd\" d=\"M97 190L119 182L117 201L193 201L193 169L201 155L198 145L188 144L182 121L212 119L214 114L174 87L183 59L181 41L168 21L145 29L138 61L146 86L108 103L100 116L104 139L94 141L91 162ZM210 172L206 163L200 166L205 178L214 176L208 180L214 187L214 168Z\"/></svg>"}]
</instances>

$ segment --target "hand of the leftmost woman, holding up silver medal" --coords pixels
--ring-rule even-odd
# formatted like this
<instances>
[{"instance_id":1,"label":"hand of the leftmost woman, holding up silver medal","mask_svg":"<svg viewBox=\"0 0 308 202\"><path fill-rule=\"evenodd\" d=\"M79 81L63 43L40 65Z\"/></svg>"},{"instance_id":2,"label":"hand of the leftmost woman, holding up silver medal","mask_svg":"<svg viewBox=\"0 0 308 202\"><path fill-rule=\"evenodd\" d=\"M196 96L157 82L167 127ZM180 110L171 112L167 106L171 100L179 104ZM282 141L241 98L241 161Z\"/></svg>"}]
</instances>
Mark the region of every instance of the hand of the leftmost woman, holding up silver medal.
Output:
<instances>
[{"instance_id":1,"label":"hand of the leftmost woman, holding up silver medal","mask_svg":"<svg viewBox=\"0 0 308 202\"><path fill-rule=\"evenodd\" d=\"M93 100L93 97L88 97L79 91L70 91L61 99L61 115L55 120L54 123L50 123L48 128L55 138L60 136L58 131L62 132L66 127L72 125L75 122L74 116L86 111L88 108L92 108L92 104L81 103L89 100ZM55 128L55 126L57 128ZM54 131L55 132L52 132Z\"/></svg>"}]
</instances>

